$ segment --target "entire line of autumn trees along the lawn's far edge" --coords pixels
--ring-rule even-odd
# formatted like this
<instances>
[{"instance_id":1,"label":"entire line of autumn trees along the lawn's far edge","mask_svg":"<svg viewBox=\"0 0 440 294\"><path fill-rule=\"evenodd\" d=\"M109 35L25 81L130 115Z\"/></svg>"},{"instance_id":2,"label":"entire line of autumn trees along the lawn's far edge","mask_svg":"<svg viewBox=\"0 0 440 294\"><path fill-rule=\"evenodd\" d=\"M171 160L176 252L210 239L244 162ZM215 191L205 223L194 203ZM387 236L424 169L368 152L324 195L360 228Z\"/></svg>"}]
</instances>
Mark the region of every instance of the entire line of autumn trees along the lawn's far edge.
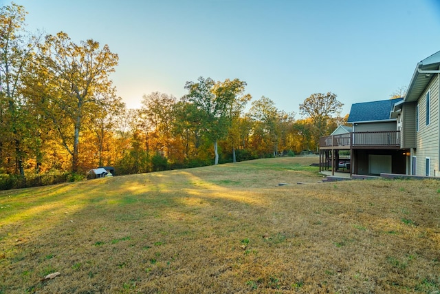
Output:
<instances>
[{"instance_id":1,"label":"entire line of autumn trees along the lawn's far edge","mask_svg":"<svg viewBox=\"0 0 440 294\"><path fill-rule=\"evenodd\" d=\"M98 166L136 174L297 154L344 123L336 94L312 94L295 119L270 98L252 101L238 78L200 77L180 98L153 92L127 109L109 78L118 54L65 32L31 34L25 14L15 3L0 11L0 176Z\"/></svg>"}]
</instances>

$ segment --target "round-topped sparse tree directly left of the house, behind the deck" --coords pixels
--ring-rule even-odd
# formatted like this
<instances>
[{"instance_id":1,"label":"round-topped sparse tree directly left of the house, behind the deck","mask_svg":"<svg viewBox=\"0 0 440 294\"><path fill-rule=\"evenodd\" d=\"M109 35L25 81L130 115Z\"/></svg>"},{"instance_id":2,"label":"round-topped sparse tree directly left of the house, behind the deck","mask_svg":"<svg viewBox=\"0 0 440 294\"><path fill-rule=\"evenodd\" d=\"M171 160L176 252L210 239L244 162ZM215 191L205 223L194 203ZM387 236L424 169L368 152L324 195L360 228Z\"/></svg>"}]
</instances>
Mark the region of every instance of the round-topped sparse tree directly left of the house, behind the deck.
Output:
<instances>
[{"instance_id":1,"label":"round-topped sparse tree directly left of the house, behind the deck","mask_svg":"<svg viewBox=\"0 0 440 294\"><path fill-rule=\"evenodd\" d=\"M327 94L311 94L300 104L300 114L311 118L314 125L314 140L319 143L319 138L329 132L328 123L331 116L339 116L344 104L338 101L338 96L331 92Z\"/></svg>"}]
</instances>

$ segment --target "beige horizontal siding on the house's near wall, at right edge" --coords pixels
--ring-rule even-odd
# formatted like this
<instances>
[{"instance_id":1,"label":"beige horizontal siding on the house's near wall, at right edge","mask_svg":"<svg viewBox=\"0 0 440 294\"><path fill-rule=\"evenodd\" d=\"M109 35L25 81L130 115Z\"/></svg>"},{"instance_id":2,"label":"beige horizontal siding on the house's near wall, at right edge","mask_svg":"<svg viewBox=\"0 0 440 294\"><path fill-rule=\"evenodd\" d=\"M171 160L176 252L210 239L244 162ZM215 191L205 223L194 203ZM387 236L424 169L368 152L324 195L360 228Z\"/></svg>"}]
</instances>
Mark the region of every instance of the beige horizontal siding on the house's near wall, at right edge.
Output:
<instances>
[{"instance_id":1,"label":"beige horizontal siding on the house's near wall, at right edge","mask_svg":"<svg viewBox=\"0 0 440 294\"><path fill-rule=\"evenodd\" d=\"M430 123L426 125L426 93L430 92ZM432 78L431 83L417 101L419 105L419 132L416 134L417 176L426 174L426 158L430 158L430 176L439 176L439 75Z\"/></svg>"}]
</instances>

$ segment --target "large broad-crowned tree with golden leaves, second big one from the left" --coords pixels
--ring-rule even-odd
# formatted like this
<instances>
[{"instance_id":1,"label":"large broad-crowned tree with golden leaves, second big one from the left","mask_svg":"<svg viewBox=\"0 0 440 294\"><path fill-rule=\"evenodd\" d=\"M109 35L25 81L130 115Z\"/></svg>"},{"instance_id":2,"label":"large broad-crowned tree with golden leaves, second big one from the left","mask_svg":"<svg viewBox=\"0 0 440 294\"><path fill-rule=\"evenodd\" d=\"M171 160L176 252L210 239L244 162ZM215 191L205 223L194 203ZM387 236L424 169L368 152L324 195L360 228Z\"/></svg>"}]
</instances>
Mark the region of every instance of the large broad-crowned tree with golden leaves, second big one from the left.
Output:
<instances>
[{"instance_id":1,"label":"large broad-crowned tree with golden leaves, second big one from the left","mask_svg":"<svg viewBox=\"0 0 440 294\"><path fill-rule=\"evenodd\" d=\"M61 143L72 156L72 171L78 171L80 131L86 118L118 102L109 79L118 65L118 55L108 45L87 40L73 43L64 32L46 36L39 54L39 74L47 78L45 111Z\"/></svg>"}]
</instances>

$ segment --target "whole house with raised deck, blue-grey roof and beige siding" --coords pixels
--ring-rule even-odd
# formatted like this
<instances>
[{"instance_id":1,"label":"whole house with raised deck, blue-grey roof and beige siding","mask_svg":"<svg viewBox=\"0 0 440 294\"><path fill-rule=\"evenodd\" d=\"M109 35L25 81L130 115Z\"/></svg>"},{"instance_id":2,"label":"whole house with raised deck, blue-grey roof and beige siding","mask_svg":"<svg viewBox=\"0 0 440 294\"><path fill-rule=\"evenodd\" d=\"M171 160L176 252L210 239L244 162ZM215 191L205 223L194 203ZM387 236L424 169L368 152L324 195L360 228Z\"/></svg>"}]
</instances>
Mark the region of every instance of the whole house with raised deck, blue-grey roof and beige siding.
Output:
<instances>
[{"instance_id":1,"label":"whole house with raised deck, blue-grey roof and beige siding","mask_svg":"<svg viewBox=\"0 0 440 294\"><path fill-rule=\"evenodd\" d=\"M440 176L440 52L415 68L404 98L351 106L349 134L320 139L320 163L337 169L340 150L350 150L350 173ZM321 166L321 164L320 164Z\"/></svg>"}]
</instances>

